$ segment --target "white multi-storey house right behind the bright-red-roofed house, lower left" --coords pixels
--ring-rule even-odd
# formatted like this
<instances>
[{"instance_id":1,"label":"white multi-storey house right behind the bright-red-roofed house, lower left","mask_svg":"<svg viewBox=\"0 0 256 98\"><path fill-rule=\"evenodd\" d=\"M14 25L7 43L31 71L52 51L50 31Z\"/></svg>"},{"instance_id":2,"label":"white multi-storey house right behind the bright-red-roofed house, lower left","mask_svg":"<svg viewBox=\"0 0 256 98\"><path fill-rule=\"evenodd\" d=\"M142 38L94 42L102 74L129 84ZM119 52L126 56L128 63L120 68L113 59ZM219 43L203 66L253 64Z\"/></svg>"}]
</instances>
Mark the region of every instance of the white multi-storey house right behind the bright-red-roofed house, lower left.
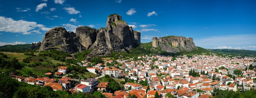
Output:
<instances>
[{"instance_id":1,"label":"white multi-storey house right behind the bright-red-roofed house, lower left","mask_svg":"<svg viewBox=\"0 0 256 98\"><path fill-rule=\"evenodd\" d=\"M90 86L91 92L94 92L94 88L99 84L99 80L96 78L88 78L86 80L82 80L80 84Z\"/></svg>"}]
</instances>

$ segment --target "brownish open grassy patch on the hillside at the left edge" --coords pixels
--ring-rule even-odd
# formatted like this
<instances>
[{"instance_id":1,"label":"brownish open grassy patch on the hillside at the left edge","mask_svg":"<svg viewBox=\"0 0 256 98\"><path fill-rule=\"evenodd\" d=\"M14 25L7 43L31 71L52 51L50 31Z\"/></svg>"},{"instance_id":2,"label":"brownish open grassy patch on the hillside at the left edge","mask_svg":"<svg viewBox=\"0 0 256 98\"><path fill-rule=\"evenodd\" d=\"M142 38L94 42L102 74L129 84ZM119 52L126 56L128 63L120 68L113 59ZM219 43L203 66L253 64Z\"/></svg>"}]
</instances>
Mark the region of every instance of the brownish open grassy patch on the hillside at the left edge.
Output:
<instances>
[{"instance_id":1,"label":"brownish open grassy patch on the hillside at the left edge","mask_svg":"<svg viewBox=\"0 0 256 98\"><path fill-rule=\"evenodd\" d=\"M24 53L11 53L11 52L2 52L7 55L9 58L16 58L21 62L24 58L27 58L29 56L24 55Z\"/></svg>"}]
</instances>

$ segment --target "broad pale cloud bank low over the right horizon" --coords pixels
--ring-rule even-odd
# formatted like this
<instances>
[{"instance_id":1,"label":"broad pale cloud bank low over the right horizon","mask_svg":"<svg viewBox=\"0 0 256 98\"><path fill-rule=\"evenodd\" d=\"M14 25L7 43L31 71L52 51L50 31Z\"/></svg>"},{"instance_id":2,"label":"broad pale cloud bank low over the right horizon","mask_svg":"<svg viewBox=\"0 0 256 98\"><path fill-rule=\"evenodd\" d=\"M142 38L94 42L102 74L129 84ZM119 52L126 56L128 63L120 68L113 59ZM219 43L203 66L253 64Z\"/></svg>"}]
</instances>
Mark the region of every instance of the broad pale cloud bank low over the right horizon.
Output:
<instances>
[{"instance_id":1,"label":"broad pale cloud bank low over the right horizon","mask_svg":"<svg viewBox=\"0 0 256 98\"><path fill-rule=\"evenodd\" d=\"M210 36L194 39L195 45L205 49L249 49L256 50L256 34ZM225 47L223 47L225 46ZM250 46L250 47L249 47Z\"/></svg>"}]
</instances>

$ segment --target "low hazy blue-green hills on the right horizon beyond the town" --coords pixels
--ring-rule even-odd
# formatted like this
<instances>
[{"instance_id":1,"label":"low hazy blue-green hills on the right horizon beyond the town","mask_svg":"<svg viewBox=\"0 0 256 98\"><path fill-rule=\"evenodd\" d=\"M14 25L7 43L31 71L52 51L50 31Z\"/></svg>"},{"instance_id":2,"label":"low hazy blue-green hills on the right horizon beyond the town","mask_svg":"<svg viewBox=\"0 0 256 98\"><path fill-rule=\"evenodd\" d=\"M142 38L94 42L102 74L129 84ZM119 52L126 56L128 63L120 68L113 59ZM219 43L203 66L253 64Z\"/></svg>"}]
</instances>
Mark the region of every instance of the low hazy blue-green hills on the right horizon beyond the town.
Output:
<instances>
[{"instance_id":1,"label":"low hazy blue-green hills on the right horizon beyond the town","mask_svg":"<svg viewBox=\"0 0 256 98\"><path fill-rule=\"evenodd\" d=\"M208 51L234 56L256 56L256 51L238 49L206 49Z\"/></svg>"}]
</instances>

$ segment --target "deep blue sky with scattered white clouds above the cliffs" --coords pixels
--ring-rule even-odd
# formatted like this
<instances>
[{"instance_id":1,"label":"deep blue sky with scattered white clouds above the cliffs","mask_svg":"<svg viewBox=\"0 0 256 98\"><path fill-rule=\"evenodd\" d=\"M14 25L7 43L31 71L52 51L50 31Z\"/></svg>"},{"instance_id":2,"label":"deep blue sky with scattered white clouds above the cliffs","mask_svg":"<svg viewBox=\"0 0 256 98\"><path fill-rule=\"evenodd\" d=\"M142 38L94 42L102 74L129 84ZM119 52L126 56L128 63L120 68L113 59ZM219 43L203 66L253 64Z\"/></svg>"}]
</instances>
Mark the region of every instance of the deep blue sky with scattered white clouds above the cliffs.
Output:
<instances>
[{"instance_id":1,"label":"deep blue sky with scattered white clouds above the cliffs","mask_svg":"<svg viewBox=\"0 0 256 98\"><path fill-rule=\"evenodd\" d=\"M142 43L173 35L205 49L256 50L256 0L1 0L0 46L42 41L54 27L106 27L113 13Z\"/></svg>"}]
</instances>

